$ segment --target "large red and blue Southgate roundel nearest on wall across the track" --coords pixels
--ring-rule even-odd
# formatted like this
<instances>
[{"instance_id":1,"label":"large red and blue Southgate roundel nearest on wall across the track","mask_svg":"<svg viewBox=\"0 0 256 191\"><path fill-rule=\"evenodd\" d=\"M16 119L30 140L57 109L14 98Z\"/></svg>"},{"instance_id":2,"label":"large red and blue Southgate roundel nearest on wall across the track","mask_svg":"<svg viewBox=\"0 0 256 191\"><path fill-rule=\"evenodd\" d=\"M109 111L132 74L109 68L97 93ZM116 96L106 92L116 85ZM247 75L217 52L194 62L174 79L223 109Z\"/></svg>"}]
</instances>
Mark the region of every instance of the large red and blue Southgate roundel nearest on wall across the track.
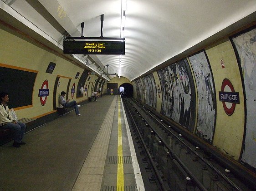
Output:
<instances>
[{"instance_id":1,"label":"large red and blue Southgate roundel nearest on wall across the track","mask_svg":"<svg viewBox=\"0 0 256 191\"><path fill-rule=\"evenodd\" d=\"M219 91L219 100L222 102L227 115L232 115L235 111L236 104L240 103L239 92L235 92L232 83L227 78L222 81L221 92Z\"/></svg>"}]
</instances>

